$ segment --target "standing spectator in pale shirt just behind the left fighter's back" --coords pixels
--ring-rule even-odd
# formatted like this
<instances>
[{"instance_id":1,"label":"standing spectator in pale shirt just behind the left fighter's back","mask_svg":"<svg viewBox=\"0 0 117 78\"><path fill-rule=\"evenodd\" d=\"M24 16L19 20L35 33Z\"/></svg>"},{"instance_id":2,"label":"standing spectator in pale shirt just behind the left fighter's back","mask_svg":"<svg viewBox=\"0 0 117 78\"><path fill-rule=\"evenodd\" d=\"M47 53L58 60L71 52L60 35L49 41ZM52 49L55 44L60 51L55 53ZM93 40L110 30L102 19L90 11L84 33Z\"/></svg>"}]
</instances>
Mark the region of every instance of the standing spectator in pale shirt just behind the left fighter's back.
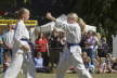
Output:
<instances>
[{"instance_id":1,"label":"standing spectator in pale shirt just behind the left fighter's back","mask_svg":"<svg viewBox=\"0 0 117 78\"><path fill-rule=\"evenodd\" d=\"M3 63L9 62L6 60L12 58L13 36L14 36L14 27L12 25L8 25L8 31L3 35L3 42L4 42ZM8 67L8 65L4 67Z\"/></svg>"}]
</instances>

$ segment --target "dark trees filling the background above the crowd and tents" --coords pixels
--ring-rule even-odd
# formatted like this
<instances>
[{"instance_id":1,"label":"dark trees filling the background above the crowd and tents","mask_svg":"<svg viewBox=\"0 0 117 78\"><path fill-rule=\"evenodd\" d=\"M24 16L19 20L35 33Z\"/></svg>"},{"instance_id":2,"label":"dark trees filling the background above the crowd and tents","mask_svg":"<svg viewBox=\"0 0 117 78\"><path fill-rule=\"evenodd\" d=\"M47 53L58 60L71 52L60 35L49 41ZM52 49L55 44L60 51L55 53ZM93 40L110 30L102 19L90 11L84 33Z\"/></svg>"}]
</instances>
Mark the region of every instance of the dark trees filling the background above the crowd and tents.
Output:
<instances>
[{"instance_id":1,"label":"dark trees filling the background above the crowd and tents","mask_svg":"<svg viewBox=\"0 0 117 78\"><path fill-rule=\"evenodd\" d=\"M117 0L0 0L0 10L15 11L23 6L30 9L37 18L48 11L55 16L76 12L87 24L102 26L103 35L117 34Z\"/></svg>"}]
</instances>

